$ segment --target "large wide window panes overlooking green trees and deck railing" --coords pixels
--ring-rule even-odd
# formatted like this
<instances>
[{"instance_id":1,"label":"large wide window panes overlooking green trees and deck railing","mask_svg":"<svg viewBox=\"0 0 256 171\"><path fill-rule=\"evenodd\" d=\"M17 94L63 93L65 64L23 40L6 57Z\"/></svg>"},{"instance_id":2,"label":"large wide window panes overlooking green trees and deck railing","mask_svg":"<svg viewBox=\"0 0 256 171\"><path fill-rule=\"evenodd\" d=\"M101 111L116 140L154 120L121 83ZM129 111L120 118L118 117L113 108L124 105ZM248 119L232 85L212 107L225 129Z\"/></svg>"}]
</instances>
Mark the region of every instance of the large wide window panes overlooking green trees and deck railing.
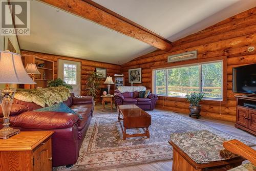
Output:
<instances>
[{"instance_id":1,"label":"large wide window panes overlooking green trees and deck railing","mask_svg":"<svg viewBox=\"0 0 256 171\"><path fill-rule=\"evenodd\" d=\"M154 70L154 93L185 97L196 92L205 99L222 99L222 61Z\"/></svg>"}]
</instances>

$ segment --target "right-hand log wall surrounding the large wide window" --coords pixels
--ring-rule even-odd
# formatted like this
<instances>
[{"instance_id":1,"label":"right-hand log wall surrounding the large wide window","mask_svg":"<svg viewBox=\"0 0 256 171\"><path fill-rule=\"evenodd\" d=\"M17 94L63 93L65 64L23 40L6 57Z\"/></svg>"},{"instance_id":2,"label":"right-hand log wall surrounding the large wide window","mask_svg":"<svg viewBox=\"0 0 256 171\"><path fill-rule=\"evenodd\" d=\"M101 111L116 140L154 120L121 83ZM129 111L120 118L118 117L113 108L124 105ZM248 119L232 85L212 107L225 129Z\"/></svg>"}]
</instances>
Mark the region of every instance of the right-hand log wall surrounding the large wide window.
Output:
<instances>
[{"instance_id":1,"label":"right-hand log wall surrounding the large wide window","mask_svg":"<svg viewBox=\"0 0 256 171\"><path fill-rule=\"evenodd\" d=\"M152 89L152 67L167 64L167 56L198 50L198 59L227 57L227 102L203 103L201 115L207 118L236 120L236 98L232 92L232 68L256 62L256 50L248 52L248 47L256 48L256 7L232 16L195 34L173 42L172 50L161 50L138 57L121 65L121 72L128 82L128 69L142 68L142 83ZM139 86L139 84L134 84ZM127 86L127 84L126 84ZM157 107L179 113L189 113L188 103L180 98L159 97Z\"/></svg>"}]
</instances>

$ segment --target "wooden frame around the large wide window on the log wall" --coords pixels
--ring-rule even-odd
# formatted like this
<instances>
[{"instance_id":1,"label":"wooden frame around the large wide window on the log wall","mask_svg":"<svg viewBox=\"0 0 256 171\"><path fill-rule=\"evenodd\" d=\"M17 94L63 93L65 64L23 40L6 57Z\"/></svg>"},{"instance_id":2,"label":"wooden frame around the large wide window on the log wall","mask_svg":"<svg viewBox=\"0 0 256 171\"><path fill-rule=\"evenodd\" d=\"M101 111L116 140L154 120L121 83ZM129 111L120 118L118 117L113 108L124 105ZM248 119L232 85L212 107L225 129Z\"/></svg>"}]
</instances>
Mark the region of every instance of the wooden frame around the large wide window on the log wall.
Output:
<instances>
[{"instance_id":1,"label":"wooden frame around the large wide window on the log wall","mask_svg":"<svg viewBox=\"0 0 256 171\"><path fill-rule=\"evenodd\" d=\"M188 67L188 66L195 66L195 65L203 65L207 63L215 63L222 61L222 98L216 99L216 98L203 98L202 103L208 103L208 104L226 104L227 103L227 57L226 56L220 56L220 57L213 57L213 58L206 58L206 59L197 59L197 60L188 60L188 61L181 61L177 63L169 63L168 65L164 65L161 68L159 67L152 67L152 92L155 93L156 90L156 75L155 71L156 70L161 70L161 69L170 69L170 68L181 68L181 67ZM200 67L202 68L202 67ZM202 80L202 72L200 72L200 82ZM166 80L167 81L167 80ZM202 83L200 83L200 91L202 87ZM167 87L167 83L166 83ZM166 89L167 90L167 89ZM158 95L160 97L163 97L164 100L177 100L177 101L186 101L186 97L181 97L181 96L168 96L167 91L165 95Z\"/></svg>"}]
</instances>

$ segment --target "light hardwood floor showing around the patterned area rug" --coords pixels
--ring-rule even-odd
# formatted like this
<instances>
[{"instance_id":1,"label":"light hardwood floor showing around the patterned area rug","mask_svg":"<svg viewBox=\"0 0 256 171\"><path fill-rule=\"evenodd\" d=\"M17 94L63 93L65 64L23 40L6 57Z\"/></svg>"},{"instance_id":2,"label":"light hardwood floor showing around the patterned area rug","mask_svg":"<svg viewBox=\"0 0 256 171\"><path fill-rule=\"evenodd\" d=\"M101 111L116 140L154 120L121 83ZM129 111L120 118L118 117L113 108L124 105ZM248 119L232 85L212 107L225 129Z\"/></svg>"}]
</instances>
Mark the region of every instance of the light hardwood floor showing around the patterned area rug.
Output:
<instances>
[{"instance_id":1,"label":"light hardwood floor showing around the patterned area rug","mask_svg":"<svg viewBox=\"0 0 256 171\"><path fill-rule=\"evenodd\" d=\"M102 112L101 109L102 109L102 105L96 104L95 109L94 109L94 115L117 113L116 109L111 111L110 103L106 105L104 112ZM161 109L155 109L155 110L164 111ZM181 114L181 115L188 117L188 115L185 115L185 114ZM220 130L222 132L225 132L225 133L237 136L237 137L241 137L243 139L246 139L249 142L256 144L255 136L253 136L252 134L249 134L245 131L236 129L234 127L234 123L232 123L232 122L206 119L206 118L200 118L200 119L196 119L196 120L199 122L202 122L206 125L209 125L211 127L214 127L217 130ZM254 146L253 148L256 149L256 146ZM156 171L156 170L164 171L164 170L172 170L172 164L173 164L173 160L166 160L166 161L159 161L159 162L153 162L153 163L147 163L147 164L141 164L141 165L134 165L134 166L129 166L129 167L107 169L105 171L134 171L134 170L136 170L136 171ZM54 170L55 169L56 168L54 168Z\"/></svg>"}]
</instances>

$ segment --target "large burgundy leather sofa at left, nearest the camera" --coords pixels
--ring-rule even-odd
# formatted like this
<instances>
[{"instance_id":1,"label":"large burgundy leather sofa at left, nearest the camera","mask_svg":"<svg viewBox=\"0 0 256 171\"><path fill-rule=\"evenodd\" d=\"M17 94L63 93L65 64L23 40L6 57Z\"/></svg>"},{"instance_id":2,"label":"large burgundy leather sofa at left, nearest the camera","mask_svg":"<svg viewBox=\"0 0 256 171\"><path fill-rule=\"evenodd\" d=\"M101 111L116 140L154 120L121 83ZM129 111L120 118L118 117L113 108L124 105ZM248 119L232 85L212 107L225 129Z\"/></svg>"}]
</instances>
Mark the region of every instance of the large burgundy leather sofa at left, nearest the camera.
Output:
<instances>
[{"instance_id":1,"label":"large burgundy leather sofa at left, nearest the camera","mask_svg":"<svg viewBox=\"0 0 256 171\"><path fill-rule=\"evenodd\" d=\"M73 165L76 163L82 141L92 119L94 104L89 96L71 97L65 101L72 110L79 114L63 112L36 112L41 106L14 99L10 125L20 131L54 131L52 135L52 164L53 167L61 165ZM26 111L16 114L20 108L26 107ZM18 109L15 109L18 108ZM3 117L3 115L2 115ZM2 126L2 124L1 124ZM1 127L0 126L0 127ZM2 127L1 127L2 128Z\"/></svg>"}]
</instances>

